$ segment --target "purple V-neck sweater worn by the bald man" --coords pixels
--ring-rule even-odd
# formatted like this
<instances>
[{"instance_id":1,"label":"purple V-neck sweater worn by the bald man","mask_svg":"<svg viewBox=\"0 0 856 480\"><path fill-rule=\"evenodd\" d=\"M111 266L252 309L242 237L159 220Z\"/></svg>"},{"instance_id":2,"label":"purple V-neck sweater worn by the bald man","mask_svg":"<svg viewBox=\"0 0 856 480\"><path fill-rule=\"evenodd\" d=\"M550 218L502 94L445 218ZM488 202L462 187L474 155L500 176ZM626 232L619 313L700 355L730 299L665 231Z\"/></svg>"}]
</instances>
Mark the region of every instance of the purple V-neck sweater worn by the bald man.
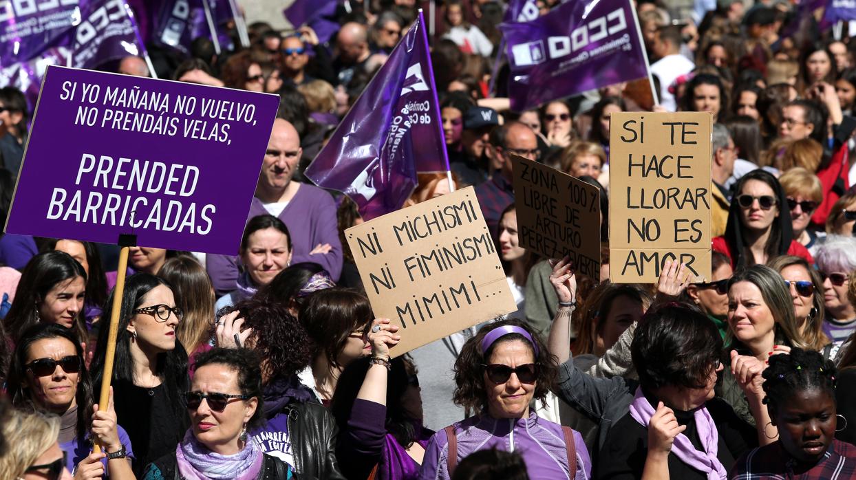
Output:
<instances>
[{"instance_id":1,"label":"purple V-neck sweater worn by the bald man","mask_svg":"<svg viewBox=\"0 0 856 480\"><path fill-rule=\"evenodd\" d=\"M267 215L265 205L261 200L253 198L250 213L247 218ZM291 263L313 262L320 264L330 273L334 281L339 280L342 273L342 243L339 242L339 229L336 223L336 203L330 193L301 183L294 199L282 210L279 219L285 222L288 233L291 234L293 248ZM310 255L318 244L329 243L333 247L330 253ZM205 257L205 268L211 276L211 282L217 295L224 295L235 290L238 281L238 262L236 256L208 255Z\"/></svg>"}]
</instances>

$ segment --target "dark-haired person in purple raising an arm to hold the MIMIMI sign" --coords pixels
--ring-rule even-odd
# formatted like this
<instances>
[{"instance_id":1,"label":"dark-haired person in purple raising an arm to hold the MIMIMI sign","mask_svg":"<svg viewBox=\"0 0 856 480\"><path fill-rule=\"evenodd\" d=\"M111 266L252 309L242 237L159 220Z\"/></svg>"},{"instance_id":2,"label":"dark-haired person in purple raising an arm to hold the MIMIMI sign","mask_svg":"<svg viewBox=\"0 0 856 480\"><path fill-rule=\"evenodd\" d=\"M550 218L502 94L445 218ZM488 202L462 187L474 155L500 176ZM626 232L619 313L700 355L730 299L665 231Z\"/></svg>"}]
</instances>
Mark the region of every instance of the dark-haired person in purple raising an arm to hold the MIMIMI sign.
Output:
<instances>
[{"instance_id":1,"label":"dark-haired person in purple raising an arm to hold the MIMIMI sign","mask_svg":"<svg viewBox=\"0 0 856 480\"><path fill-rule=\"evenodd\" d=\"M415 480L434 435L422 426L422 399L415 367L406 356L389 359L400 340L387 318L372 322L372 356L342 371L330 410L339 424L336 454L348 477ZM413 372L413 373L411 373Z\"/></svg>"}]
</instances>

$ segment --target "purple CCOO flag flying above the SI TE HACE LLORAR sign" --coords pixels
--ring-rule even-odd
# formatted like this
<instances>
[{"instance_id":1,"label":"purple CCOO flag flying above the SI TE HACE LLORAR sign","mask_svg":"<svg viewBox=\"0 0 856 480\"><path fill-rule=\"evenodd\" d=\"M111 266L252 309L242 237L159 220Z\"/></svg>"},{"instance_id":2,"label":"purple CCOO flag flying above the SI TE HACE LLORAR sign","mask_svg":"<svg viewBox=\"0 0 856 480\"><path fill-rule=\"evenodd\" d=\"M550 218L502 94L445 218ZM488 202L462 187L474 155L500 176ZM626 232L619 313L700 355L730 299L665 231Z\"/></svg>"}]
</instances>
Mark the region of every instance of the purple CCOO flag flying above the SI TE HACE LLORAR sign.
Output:
<instances>
[{"instance_id":1,"label":"purple CCOO flag flying above the SI TE HACE LLORAR sign","mask_svg":"<svg viewBox=\"0 0 856 480\"><path fill-rule=\"evenodd\" d=\"M563 3L534 21L499 27L516 111L648 74L629 0Z\"/></svg>"}]
</instances>

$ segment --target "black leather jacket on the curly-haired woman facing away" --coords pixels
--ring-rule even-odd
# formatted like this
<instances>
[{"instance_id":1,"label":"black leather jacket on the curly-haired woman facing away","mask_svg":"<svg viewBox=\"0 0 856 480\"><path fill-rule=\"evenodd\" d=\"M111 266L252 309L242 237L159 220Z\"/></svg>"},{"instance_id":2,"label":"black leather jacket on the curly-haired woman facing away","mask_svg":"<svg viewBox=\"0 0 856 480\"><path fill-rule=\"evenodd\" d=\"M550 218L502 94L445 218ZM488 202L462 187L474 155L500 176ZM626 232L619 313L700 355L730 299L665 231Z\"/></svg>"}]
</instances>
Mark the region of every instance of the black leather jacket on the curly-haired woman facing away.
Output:
<instances>
[{"instance_id":1,"label":"black leather jacket on the curly-haired woman facing away","mask_svg":"<svg viewBox=\"0 0 856 480\"><path fill-rule=\"evenodd\" d=\"M292 402L288 413L288 437L294 455L294 473L300 480L344 480L336 460L336 436L339 429L333 415L312 402Z\"/></svg>"}]
</instances>

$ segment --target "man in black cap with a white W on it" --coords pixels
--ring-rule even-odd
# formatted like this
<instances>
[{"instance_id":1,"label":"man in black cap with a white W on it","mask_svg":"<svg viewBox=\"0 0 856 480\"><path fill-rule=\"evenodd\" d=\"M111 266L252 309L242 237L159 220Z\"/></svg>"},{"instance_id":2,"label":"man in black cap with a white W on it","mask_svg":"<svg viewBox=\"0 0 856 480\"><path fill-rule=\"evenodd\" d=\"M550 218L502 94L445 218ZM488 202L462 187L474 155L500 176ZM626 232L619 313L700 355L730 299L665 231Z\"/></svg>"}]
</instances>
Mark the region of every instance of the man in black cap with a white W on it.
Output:
<instances>
[{"instance_id":1,"label":"man in black cap with a white W on it","mask_svg":"<svg viewBox=\"0 0 856 480\"><path fill-rule=\"evenodd\" d=\"M470 107L464 114L464 130L461 132L461 154L449 158L450 166L461 182L479 185L488 179L490 172L490 132L499 125L496 110Z\"/></svg>"}]
</instances>

